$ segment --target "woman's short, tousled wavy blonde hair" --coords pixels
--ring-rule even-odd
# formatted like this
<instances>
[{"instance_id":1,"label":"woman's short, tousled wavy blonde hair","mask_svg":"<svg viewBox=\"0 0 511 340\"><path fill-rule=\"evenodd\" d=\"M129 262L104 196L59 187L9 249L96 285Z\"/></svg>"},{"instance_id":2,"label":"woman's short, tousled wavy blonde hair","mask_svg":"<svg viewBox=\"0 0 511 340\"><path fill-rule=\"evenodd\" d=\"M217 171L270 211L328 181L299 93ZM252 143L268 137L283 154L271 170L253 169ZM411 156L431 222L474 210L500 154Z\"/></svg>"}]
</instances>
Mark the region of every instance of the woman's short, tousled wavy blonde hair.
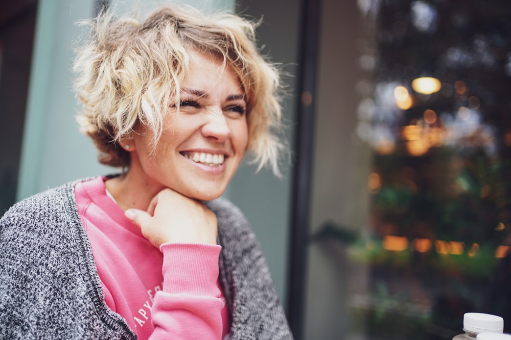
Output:
<instances>
[{"instance_id":1,"label":"woman's short, tousled wavy blonde hair","mask_svg":"<svg viewBox=\"0 0 511 340\"><path fill-rule=\"evenodd\" d=\"M248 151L259 169L278 175L283 148L280 74L255 41L257 23L228 13L206 15L189 6L159 8L144 21L104 11L77 49L74 89L82 104L77 120L100 151L101 163L129 166L119 142L140 122L154 131L154 145L170 104L179 103L189 52L219 57L233 67L247 101Z\"/></svg>"}]
</instances>

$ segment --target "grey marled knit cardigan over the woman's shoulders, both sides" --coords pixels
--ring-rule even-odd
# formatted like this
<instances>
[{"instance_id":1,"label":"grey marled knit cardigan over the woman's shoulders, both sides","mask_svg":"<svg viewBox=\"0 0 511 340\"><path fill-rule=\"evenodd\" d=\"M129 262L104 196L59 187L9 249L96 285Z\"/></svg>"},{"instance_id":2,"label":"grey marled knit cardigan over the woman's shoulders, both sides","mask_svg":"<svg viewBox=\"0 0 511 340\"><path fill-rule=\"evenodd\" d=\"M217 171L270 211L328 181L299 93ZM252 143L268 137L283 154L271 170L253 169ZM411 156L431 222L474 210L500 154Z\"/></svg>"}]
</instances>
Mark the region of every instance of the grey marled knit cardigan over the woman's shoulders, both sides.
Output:
<instances>
[{"instance_id":1,"label":"grey marled knit cardigan over the woman's shoulders, both sides","mask_svg":"<svg viewBox=\"0 0 511 340\"><path fill-rule=\"evenodd\" d=\"M104 302L78 215L77 181L16 203L0 220L0 338L135 339ZM231 339L291 339L259 243L232 203L207 203L218 218L220 282Z\"/></svg>"}]
</instances>

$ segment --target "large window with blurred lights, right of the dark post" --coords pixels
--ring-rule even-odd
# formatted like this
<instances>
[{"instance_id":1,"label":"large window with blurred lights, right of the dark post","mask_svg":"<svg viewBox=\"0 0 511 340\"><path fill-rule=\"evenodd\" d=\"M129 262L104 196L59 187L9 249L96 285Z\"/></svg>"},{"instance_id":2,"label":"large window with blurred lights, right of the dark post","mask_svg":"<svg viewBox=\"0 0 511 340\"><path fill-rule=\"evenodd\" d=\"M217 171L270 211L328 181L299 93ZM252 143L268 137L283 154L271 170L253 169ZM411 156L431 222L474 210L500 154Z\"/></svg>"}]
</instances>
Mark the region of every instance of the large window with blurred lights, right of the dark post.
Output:
<instances>
[{"instance_id":1,"label":"large window with blurred lights, right of the dark post","mask_svg":"<svg viewBox=\"0 0 511 340\"><path fill-rule=\"evenodd\" d=\"M322 13L306 338L511 333L511 5Z\"/></svg>"}]
</instances>

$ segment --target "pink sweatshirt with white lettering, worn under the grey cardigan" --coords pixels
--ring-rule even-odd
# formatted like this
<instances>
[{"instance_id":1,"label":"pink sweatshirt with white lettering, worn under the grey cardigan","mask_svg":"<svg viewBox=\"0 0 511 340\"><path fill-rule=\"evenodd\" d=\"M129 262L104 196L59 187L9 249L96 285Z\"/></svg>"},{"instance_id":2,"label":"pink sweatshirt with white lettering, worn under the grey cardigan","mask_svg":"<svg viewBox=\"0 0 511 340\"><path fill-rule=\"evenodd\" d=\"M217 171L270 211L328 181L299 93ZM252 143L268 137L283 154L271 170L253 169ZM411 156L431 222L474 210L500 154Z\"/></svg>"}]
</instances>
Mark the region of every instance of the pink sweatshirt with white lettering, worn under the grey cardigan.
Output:
<instances>
[{"instance_id":1,"label":"pink sweatshirt with white lettering, worn under the grey cardigan","mask_svg":"<svg viewBox=\"0 0 511 340\"><path fill-rule=\"evenodd\" d=\"M80 218L105 293L139 339L221 339L229 317L218 283L221 247L154 247L107 196L104 177L80 182Z\"/></svg>"}]
</instances>

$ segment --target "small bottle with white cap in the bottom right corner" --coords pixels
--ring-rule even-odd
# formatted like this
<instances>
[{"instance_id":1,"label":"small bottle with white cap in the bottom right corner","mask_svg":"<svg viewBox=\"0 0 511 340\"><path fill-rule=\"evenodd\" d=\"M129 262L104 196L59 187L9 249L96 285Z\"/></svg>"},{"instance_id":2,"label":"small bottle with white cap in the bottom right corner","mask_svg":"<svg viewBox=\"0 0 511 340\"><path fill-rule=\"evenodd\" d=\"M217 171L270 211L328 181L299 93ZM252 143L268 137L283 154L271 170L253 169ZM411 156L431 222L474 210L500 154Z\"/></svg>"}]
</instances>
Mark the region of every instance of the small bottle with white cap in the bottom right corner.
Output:
<instances>
[{"instance_id":1,"label":"small bottle with white cap in the bottom right corner","mask_svg":"<svg viewBox=\"0 0 511 340\"><path fill-rule=\"evenodd\" d=\"M452 340L474 340L479 333L504 332L504 319L485 313L465 313L463 315L463 331Z\"/></svg>"}]
</instances>

